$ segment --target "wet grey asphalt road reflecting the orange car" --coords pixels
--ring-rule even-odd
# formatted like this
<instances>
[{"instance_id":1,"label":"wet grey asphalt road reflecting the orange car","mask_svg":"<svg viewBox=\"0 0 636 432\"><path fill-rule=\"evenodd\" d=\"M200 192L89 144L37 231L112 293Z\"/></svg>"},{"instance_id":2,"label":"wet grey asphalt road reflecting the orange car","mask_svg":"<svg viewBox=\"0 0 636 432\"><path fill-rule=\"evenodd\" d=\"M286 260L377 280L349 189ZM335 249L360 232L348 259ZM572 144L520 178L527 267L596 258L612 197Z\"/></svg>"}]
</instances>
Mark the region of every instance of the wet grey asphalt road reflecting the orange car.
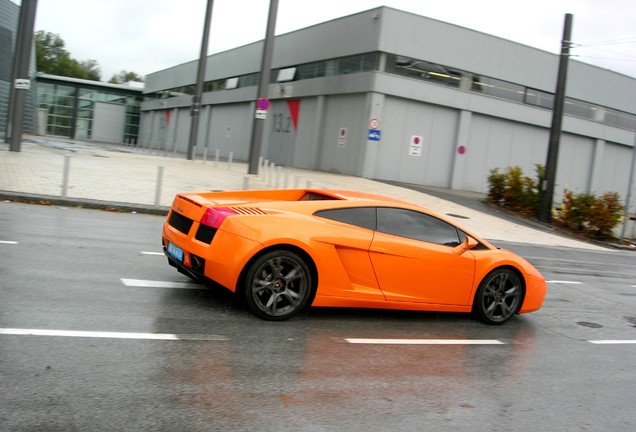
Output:
<instances>
[{"instance_id":1,"label":"wet grey asphalt road reflecting the orange car","mask_svg":"<svg viewBox=\"0 0 636 432\"><path fill-rule=\"evenodd\" d=\"M634 253L503 245L551 282L501 327L269 323L169 267L160 216L0 203L0 220L3 431L636 430Z\"/></svg>"}]
</instances>

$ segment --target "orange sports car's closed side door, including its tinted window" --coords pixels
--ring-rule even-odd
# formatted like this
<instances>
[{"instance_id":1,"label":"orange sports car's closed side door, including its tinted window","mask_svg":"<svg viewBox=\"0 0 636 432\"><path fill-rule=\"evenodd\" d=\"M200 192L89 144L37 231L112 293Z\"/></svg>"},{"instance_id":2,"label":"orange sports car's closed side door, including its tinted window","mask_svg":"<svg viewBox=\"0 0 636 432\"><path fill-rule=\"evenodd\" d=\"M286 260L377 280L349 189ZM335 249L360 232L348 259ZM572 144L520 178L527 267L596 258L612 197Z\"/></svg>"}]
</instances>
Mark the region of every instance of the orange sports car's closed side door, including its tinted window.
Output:
<instances>
[{"instance_id":1,"label":"orange sports car's closed side door, including its tinted window","mask_svg":"<svg viewBox=\"0 0 636 432\"><path fill-rule=\"evenodd\" d=\"M466 305L475 258L455 248L465 234L426 213L379 207L369 254L389 301Z\"/></svg>"}]
</instances>

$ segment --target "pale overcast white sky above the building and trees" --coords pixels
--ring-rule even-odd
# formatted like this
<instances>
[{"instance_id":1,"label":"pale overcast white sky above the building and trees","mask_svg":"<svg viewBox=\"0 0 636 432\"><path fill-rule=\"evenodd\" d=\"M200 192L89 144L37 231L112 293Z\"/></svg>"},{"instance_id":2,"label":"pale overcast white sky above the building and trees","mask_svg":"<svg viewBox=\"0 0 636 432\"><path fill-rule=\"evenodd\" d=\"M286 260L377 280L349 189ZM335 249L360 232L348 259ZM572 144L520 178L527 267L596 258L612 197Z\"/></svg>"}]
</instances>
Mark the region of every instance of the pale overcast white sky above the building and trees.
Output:
<instances>
[{"instance_id":1,"label":"pale overcast white sky above the building and trees","mask_svg":"<svg viewBox=\"0 0 636 432\"><path fill-rule=\"evenodd\" d=\"M20 0L13 0L20 3ZM215 0L208 54L265 37L269 0ZM102 80L146 75L195 60L207 0L38 0L35 30L60 35L76 60L96 60ZM634 0L279 0L276 34L377 6L413 12L559 53L574 15L575 60L636 77Z\"/></svg>"}]
</instances>

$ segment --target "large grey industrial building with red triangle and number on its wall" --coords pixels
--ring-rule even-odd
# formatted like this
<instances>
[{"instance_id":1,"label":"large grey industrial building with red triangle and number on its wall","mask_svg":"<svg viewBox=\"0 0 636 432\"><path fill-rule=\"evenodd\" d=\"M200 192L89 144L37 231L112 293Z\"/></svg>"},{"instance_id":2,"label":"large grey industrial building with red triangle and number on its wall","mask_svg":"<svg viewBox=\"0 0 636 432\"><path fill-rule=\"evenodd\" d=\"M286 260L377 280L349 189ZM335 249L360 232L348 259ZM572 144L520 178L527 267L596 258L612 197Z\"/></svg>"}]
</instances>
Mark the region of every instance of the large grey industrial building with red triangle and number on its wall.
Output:
<instances>
[{"instance_id":1,"label":"large grey industrial building with red triangle and number on its wall","mask_svg":"<svg viewBox=\"0 0 636 432\"><path fill-rule=\"evenodd\" d=\"M555 41L559 45L560 41ZM263 41L207 58L197 157L248 160ZM470 191L545 164L559 56L379 7L275 38L262 157ZM146 77L140 144L187 152L197 61ZM570 62L555 201L627 194L636 79ZM256 120L263 121L263 120Z\"/></svg>"}]
</instances>

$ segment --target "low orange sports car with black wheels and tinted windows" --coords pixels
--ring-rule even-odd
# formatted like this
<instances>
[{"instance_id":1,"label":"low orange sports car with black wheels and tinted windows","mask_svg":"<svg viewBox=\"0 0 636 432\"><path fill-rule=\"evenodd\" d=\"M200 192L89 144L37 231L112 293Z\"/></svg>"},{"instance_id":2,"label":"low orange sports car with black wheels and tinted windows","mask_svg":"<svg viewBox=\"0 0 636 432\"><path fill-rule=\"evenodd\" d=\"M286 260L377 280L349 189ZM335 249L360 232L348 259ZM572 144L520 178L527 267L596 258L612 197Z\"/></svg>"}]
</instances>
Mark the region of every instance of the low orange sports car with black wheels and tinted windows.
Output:
<instances>
[{"instance_id":1,"label":"low orange sports car with black wheels and tinted windows","mask_svg":"<svg viewBox=\"0 0 636 432\"><path fill-rule=\"evenodd\" d=\"M430 210L330 189L184 193L163 226L168 262L283 320L309 306L472 312L488 324L536 311L527 261Z\"/></svg>"}]
</instances>

